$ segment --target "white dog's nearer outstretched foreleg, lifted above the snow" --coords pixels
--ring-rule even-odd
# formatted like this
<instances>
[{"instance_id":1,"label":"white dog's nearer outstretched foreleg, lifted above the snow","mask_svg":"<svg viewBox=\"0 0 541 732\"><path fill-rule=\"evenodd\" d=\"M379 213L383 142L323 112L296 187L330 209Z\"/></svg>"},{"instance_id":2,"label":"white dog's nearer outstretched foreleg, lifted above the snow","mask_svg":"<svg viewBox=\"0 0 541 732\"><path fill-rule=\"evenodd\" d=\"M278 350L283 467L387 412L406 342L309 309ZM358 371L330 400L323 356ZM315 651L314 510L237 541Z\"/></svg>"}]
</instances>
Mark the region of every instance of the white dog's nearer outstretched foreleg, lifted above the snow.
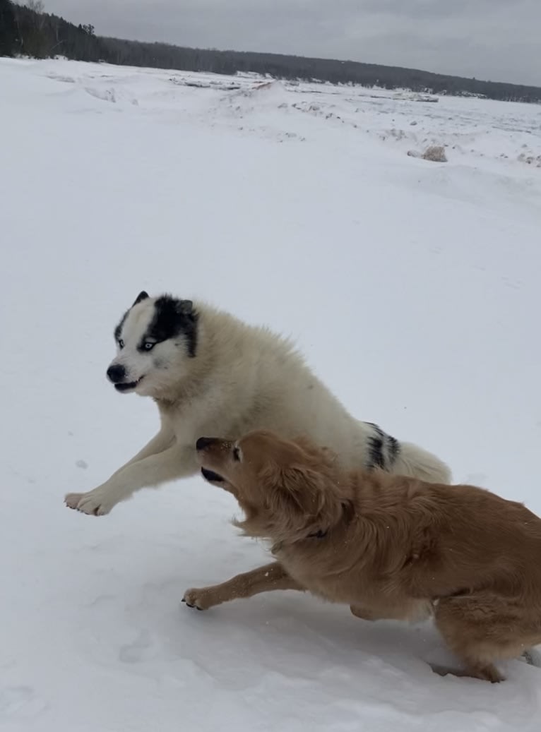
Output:
<instances>
[{"instance_id":1,"label":"white dog's nearer outstretched foreleg, lifted above the snow","mask_svg":"<svg viewBox=\"0 0 541 732\"><path fill-rule=\"evenodd\" d=\"M148 446L147 446L148 447ZM173 444L117 471L105 483L89 493L68 493L66 505L83 513L102 516L120 501L141 488L153 488L177 478L193 475L198 469L195 448Z\"/></svg>"}]
</instances>

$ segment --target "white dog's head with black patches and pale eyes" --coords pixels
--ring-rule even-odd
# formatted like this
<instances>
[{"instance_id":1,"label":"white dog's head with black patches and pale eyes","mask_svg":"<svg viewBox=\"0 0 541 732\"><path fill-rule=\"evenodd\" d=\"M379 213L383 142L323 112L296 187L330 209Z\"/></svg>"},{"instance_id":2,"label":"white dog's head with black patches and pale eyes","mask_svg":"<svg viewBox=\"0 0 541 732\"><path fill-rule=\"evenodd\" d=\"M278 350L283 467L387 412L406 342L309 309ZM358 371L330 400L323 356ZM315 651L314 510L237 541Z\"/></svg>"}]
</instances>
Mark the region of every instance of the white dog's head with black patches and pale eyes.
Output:
<instances>
[{"instance_id":1,"label":"white dog's head with black patches and pale eyes","mask_svg":"<svg viewBox=\"0 0 541 732\"><path fill-rule=\"evenodd\" d=\"M118 352L107 370L109 381L124 394L160 397L195 357L198 314L191 300L141 292L114 335Z\"/></svg>"}]
</instances>

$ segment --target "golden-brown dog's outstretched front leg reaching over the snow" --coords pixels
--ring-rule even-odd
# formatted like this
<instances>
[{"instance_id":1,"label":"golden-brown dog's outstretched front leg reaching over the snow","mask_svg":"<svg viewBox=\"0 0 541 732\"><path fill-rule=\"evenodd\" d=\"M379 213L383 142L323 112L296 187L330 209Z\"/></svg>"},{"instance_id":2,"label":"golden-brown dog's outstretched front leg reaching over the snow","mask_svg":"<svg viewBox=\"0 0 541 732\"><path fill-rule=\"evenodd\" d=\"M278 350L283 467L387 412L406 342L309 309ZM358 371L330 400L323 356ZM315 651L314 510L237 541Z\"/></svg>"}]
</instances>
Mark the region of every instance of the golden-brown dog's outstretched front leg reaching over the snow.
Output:
<instances>
[{"instance_id":1,"label":"golden-brown dog's outstretched front leg reaching over the snow","mask_svg":"<svg viewBox=\"0 0 541 732\"><path fill-rule=\"evenodd\" d=\"M221 605L222 602L240 600L245 597L253 597L260 592L272 590L299 590L304 591L296 580L291 578L282 565L273 561L272 564L265 564L251 572L243 572L231 580L220 585L210 587L192 588L184 593L182 602L189 608L208 610L214 605Z\"/></svg>"}]
</instances>

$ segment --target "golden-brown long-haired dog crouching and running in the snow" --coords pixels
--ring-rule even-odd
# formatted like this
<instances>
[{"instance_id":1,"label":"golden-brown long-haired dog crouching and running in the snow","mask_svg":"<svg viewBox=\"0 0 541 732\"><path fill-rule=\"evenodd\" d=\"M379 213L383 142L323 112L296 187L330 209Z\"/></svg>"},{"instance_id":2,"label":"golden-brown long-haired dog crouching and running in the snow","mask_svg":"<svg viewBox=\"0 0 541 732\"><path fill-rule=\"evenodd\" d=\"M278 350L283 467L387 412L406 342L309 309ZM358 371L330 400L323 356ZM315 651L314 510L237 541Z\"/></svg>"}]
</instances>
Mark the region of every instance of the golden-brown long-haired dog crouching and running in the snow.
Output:
<instances>
[{"instance_id":1,"label":"golden-brown long-haired dog crouching and running in the snow","mask_svg":"<svg viewBox=\"0 0 541 732\"><path fill-rule=\"evenodd\" d=\"M329 451L265 431L201 438L197 452L204 477L245 512L236 526L272 541L277 561L190 589L188 605L296 589L363 619L433 614L460 675L488 681L503 678L494 661L541 642L541 520L522 504L469 485L345 473Z\"/></svg>"}]
</instances>

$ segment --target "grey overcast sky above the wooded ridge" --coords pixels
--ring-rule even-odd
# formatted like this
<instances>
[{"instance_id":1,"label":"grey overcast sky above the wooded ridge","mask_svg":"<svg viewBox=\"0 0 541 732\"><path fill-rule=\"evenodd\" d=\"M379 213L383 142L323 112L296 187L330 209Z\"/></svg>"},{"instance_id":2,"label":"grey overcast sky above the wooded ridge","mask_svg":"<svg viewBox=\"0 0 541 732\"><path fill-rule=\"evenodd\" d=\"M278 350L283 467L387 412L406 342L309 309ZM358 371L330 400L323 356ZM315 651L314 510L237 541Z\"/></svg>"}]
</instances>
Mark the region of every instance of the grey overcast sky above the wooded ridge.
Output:
<instances>
[{"instance_id":1,"label":"grey overcast sky above the wooded ridge","mask_svg":"<svg viewBox=\"0 0 541 732\"><path fill-rule=\"evenodd\" d=\"M541 86L541 0L44 1L101 35Z\"/></svg>"}]
</instances>

